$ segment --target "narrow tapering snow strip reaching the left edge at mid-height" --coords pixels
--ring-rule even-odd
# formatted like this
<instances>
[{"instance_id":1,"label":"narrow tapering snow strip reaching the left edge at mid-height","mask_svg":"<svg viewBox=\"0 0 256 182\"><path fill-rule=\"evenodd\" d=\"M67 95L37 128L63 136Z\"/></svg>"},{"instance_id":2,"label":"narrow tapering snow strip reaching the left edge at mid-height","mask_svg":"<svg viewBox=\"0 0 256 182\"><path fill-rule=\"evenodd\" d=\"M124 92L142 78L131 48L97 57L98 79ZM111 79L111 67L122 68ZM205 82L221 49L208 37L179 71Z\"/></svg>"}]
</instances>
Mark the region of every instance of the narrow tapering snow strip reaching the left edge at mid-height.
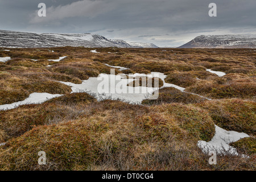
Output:
<instances>
[{"instance_id":1,"label":"narrow tapering snow strip reaching the left edge at mid-height","mask_svg":"<svg viewBox=\"0 0 256 182\"><path fill-rule=\"evenodd\" d=\"M14 102L13 104L0 105L0 110L14 109L20 105L27 104L42 104L52 98L63 96L61 94L49 94L49 93L31 93L24 101Z\"/></svg>"}]
</instances>

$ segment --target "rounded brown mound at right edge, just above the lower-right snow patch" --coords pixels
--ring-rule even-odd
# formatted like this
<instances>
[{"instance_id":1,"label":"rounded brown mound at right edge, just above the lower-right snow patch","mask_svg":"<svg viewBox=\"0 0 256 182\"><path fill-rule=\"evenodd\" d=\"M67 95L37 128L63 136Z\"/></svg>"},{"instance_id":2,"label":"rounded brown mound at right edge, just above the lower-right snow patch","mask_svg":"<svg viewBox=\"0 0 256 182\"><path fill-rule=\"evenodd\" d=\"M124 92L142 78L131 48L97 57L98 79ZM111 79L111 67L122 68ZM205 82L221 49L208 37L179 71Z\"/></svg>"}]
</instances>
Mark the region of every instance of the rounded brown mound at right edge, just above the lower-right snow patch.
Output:
<instances>
[{"instance_id":1,"label":"rounded brown mound at right edge, just above the lower-right snow patch","mask_svg":"<svg viewBox=\"0 0 256 182\"><path fill-rule=\"evenodd\" d=\"M225 130L256 135L256 103L239 99L195 104L209 111L214 123Z\"/></svg>"}]
</instances>

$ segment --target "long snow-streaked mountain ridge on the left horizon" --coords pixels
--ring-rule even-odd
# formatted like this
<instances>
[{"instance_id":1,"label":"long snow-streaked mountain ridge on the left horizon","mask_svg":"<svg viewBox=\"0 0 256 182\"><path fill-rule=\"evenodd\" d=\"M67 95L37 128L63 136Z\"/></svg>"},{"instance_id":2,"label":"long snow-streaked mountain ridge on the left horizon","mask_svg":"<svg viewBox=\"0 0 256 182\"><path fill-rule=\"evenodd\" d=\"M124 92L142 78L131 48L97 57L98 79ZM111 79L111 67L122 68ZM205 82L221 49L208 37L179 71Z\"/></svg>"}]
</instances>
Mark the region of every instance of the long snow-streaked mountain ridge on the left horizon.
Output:
<instances>
[{"instance_id":1,"label":"long snow-streaked mountain ridge on the left horizon","mask_svg":"<svg viewBox=\"0 0 256 182\"><path fill-rule=\"evenodd\" d=\"M155 44L106 39L104 36L96 34L35 34L0 30L0 47L35 48L62 46L157 48Z\"/></svg>"}]
</instances>

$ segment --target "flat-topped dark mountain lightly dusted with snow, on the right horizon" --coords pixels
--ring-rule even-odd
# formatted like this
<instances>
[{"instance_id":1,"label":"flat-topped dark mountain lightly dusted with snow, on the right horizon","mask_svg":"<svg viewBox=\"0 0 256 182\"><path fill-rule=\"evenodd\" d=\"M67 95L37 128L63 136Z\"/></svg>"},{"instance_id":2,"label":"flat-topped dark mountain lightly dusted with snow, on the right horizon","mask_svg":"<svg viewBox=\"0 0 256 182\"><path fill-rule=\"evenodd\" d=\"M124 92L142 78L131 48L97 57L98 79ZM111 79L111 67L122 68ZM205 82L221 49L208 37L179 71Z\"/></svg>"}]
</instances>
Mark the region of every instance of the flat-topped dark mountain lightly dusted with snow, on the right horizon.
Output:
<instances>
[{"instance_id":1,"label":"flat-topped dark mountain lightly dusted with snow, on the right horizon","mask_svg":"<svg viewBox=\"0 0 256 182\"><path fill-rule=\"evenodd\" d=\"M256 35L201 35L179 48L256 48Z\"/></svg>"}]
</instances>

